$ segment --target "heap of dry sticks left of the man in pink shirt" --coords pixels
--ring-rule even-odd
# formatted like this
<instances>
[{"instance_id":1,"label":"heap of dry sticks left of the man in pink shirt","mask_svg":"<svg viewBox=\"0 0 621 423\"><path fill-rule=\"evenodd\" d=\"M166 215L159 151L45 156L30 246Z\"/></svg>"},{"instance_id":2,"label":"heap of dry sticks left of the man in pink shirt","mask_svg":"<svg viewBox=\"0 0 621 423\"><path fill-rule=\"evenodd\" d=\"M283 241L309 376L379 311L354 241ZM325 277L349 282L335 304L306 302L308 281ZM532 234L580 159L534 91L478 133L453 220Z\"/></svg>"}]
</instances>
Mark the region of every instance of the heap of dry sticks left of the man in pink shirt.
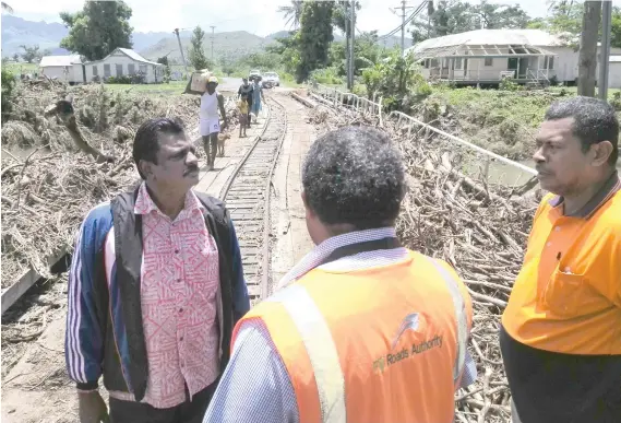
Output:
<instances>
[{"instance_id":1,"label":"heap of dry sticks left of the man in pink shirt","mask_svg":"<svg viewBox=\"0 0 621 423\"><path fill-rule=\"evenodd\" d=\"M101 164L44 149L23 161L2 154L2 287L29 266L49 275L48 257L72 249L86 213L138 180L129 145L111 153L117 162Z\"/></svg>"}]
</instances>

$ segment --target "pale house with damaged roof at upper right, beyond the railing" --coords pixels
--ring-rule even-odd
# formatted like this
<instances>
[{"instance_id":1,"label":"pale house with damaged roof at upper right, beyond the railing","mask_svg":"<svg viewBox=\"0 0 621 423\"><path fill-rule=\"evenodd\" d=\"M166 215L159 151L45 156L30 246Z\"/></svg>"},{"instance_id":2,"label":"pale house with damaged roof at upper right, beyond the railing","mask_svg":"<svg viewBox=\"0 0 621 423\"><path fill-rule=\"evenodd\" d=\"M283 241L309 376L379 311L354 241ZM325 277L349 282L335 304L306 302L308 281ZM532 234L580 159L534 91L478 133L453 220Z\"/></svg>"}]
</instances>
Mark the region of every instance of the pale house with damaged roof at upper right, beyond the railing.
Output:
<instances>
[{"instance_id":1,"label":"pale house with damaged roof at upper right, beyond the railing","mask_svg":"<svg viewBox=\"0 0 621 423\"><path fill-rule=\"evenodd\" d=\"M428 79L457 85L498 84L505 77L518 83L573 84L578 74L578 51L541 30L469 31L427 39L405 54L414 55Z\"/></svg>"}]
</instances>

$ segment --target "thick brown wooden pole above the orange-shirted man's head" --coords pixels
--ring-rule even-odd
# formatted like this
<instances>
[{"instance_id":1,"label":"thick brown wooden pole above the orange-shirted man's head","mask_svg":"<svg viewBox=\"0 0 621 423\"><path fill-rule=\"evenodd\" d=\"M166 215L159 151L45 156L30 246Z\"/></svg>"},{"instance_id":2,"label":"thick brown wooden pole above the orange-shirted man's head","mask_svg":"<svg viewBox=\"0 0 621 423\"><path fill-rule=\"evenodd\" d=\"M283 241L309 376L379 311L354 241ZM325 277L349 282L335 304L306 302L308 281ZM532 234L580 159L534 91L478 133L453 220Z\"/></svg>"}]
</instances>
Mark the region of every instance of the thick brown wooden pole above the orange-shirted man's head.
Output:
<instances>
[{"instance_id":1,"label":"thick brown wooden pole above the orange-shirted man's head","mask_svg":"<svg viewBox=\"0 0 621 423\"><path fill-rule=\"evenodd\" d=\"M595 97L597 67L597 35L601 16L601 1L585 1L580 39L577 95Z\"/></svg>"}]
</instances>

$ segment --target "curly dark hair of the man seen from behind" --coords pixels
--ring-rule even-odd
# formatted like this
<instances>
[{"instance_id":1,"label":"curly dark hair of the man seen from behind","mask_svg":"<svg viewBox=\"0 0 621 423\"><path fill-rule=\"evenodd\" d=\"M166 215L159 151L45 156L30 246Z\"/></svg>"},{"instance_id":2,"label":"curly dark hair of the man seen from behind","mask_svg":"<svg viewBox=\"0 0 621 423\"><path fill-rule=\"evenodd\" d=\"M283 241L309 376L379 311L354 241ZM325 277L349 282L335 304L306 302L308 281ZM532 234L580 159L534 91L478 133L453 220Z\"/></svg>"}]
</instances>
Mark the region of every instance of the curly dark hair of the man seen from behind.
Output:
<instances>
[{"instance_id":1,"label":"curly dark hair of the man seen from behind","mask_svg":"<svg viewBox=\"0 0 621 423\"><path fill-rule=\"evenodd\" d=\"M406 191L405 169L384 132L345 127L311 145L302 186L308 205L321 222L374 228L396 220Z\"/></svg>"}]
</instances>

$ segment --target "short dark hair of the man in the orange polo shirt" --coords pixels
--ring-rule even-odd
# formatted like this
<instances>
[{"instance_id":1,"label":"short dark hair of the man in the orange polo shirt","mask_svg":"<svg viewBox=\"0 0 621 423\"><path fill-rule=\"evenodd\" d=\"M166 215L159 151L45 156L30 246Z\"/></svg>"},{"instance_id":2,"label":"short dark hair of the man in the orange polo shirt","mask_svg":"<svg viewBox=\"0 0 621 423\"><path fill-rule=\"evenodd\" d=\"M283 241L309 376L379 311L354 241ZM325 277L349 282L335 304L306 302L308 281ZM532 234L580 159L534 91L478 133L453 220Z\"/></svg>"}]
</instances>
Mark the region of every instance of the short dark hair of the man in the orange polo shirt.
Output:
<instances>
[{"instance_id":1,"label":"short dark hair of the man in the orange polo shirt","mask_svg":"<svg viewBox=\"0 0 621 423\"><path fill-rule=\"evenodd\" d=\"M619 157L619 119L614 108L598 98L576 96L552 103L546 120L573 118L573 134L581 141L583 152L601 141L612 143L608 164L614 166Z\"/></svg>"}]
</instances>

